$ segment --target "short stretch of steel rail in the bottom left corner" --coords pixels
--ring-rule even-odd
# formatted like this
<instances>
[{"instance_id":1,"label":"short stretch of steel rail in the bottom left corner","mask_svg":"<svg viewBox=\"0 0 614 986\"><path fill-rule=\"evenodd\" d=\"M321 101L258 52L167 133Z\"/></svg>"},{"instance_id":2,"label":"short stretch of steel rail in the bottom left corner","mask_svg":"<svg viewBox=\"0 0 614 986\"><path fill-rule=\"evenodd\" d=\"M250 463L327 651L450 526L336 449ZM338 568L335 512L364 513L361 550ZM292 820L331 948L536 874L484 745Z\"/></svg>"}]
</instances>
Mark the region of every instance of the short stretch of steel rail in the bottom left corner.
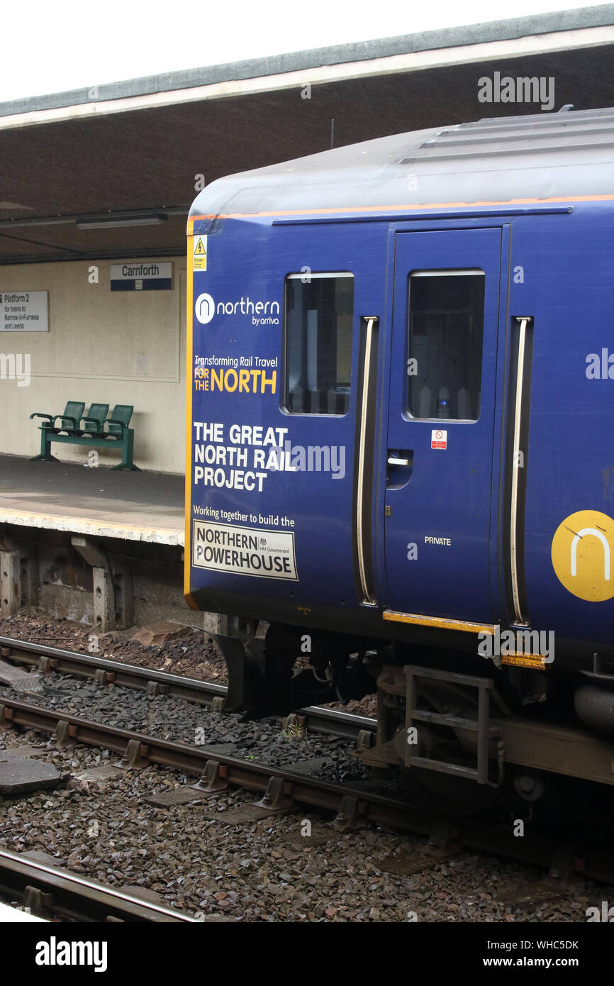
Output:
<instances>
[{"instance_id":1,"label":"short stretch of steel rail in the bottom left corner","mask_svg":"<svg viewBox=\"0 0 614 986\"><path fill-rule=\"evenodd\" d=\"M8 900L21 900L21 906L37 916L60 921L197 921L182 911L7 850L0 850L0 894Z\"/></svg>"}]
</instances>

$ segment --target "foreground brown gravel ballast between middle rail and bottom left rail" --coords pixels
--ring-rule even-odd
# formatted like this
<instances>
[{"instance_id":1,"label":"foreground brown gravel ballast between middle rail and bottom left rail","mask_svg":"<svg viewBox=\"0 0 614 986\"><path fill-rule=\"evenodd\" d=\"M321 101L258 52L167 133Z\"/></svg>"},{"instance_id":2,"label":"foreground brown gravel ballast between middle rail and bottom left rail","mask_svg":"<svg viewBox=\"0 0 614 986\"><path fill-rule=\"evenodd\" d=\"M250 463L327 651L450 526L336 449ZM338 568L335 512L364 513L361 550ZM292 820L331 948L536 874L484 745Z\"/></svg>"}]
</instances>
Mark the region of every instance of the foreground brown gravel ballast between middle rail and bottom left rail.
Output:
<instances>
[{"instance_id":1,"label":"foreground brown gravel ballast between middle rail and bottom left rail","mask_svg":"<svg viewBox=\"0 0 614 986\"><path fill-rule=\"evenodd\" d=\"M152 766L84 781L76 775L115 755L56 749L34 732L0 736L0 749L20 744L37 746L66 786L1 802L0 848L35 849L93 880L156 891L203 920L574 922L607 897L605 888L582 882L559 900L513 907L500 897L539 874L471 853L422 873L390 872L416 839L371 827L336 831L330 816L305 808L229 823L226 812L256 797L237 789L159 809L146 799L193 778Z\"/></svg>"}]
</instances>

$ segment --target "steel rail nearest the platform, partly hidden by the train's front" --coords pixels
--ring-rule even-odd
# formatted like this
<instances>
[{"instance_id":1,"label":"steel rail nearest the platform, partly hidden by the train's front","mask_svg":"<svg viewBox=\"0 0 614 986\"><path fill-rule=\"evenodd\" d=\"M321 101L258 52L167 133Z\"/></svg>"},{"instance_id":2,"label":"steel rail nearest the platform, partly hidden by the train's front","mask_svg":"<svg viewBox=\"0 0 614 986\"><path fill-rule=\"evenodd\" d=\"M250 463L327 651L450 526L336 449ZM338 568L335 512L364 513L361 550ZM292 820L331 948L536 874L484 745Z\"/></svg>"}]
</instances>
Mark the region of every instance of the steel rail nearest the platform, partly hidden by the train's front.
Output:
<instances>
[{"instance_id":1,"label":"steel rail nearest the platform, partly hidden by the train's front","mask_svg":"<svg viewBox=\"0 0 614 986\"><path fill-rule=\"evenodd\" d=\"M10 661L30 667L39 666L43 670L88 678L96 678L97 671L102 671L103 680L107 684L136 688L147 691L151 695L173 695L201 705L212 705L216 698L226 698L228 691L225 685L215 684L212 681L201 681L199 678L185 677L182 674L142 668L140 665L128 665L122 661L109 661L95 654L66 651L59 647L34 644L13 637L0 636L0 658L8 658ZM152 683L153 688L150 687ZM329 736L356 739L362 730L371 733L377 730L375 719L355 716L337 709L323 709L316 705L299 709L296 715L305 721L305 725L313 733L325 733Z\"/></svg>"}]
</instances>

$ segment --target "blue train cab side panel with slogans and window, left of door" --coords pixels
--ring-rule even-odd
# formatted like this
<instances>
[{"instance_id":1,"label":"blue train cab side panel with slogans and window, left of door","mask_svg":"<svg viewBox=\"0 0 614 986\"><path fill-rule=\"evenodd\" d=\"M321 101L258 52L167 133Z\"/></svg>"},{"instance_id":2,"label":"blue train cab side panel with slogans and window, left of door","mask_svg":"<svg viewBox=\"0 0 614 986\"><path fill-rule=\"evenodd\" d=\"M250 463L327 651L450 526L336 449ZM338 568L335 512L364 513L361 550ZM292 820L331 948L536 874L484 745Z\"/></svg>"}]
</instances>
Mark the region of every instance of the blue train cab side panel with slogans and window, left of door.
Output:
<instances>
[{"instance_id":1,"label":"blue train cab side panel with slogans and window, left of door","mask_svg":"<svg viewBox=\"0 0 614 986\"><path fill-rule=\"evenodd\" d=\"M363 492L372 431L363 430L358 464L356 435L365 333L384 302L387 228L272 231L233 220L224 229L208 269L193 272L188 305L190 595L204 609L233 610L242 599L269 616L282 606L290 616L314 606L344 612L360 604L357 473L365 529L372 502L371 488ZM370 428L375 383L364 405ZM368 555L367 565L371 537L361 560Z\"/></svg>"}]
</instances>

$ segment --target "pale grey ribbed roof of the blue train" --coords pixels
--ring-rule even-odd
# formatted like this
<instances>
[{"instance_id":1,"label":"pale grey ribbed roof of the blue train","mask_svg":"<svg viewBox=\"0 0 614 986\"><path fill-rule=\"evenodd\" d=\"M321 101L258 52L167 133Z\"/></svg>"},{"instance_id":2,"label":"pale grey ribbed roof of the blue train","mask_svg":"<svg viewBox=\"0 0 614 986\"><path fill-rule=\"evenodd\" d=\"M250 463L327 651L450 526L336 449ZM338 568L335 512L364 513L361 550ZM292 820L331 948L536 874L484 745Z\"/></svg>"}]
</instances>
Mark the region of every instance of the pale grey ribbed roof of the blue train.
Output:
<instances>
[{"instance_id":1,"label":"pale grey ribbed roof of the blue train","mask_svg":"<svg viewBox=\"0 0 614 986\"><path fill-rule=\"evenodd\" d=\"M614 201L614 108L481 119L219 178L190 218Z\"/></svg>"}]
</instances>

